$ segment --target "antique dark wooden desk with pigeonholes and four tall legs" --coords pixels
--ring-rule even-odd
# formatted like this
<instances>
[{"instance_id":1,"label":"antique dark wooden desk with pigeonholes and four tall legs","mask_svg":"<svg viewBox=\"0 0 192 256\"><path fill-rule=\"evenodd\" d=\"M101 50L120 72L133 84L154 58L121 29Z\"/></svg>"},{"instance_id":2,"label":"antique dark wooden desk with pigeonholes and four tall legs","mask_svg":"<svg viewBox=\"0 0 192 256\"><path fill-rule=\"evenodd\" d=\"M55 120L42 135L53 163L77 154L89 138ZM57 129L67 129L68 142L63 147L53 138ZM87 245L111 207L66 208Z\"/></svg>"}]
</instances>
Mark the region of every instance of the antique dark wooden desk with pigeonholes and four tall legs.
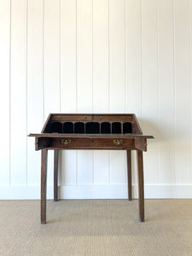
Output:
<instances>
[{"instance_id":1,"label":"antique dark wooden desk with pigeonholes and four tall legs","mask_svg":"<svg viewBox=\"0 0 192 256\"><path fill-rule=\"evenodd\" d=\"M138 201L140 221L144 221L143 151L147 139L143 136L135 114L62 114L51 113L42 133L35 137L35 149L41 157L41 223L46 223L47 153L54 150L54 201L57 201L59 150L113 149L126 150L128 199L131 201L131 150L137 150Z\"/></svg>"}]
</instances>

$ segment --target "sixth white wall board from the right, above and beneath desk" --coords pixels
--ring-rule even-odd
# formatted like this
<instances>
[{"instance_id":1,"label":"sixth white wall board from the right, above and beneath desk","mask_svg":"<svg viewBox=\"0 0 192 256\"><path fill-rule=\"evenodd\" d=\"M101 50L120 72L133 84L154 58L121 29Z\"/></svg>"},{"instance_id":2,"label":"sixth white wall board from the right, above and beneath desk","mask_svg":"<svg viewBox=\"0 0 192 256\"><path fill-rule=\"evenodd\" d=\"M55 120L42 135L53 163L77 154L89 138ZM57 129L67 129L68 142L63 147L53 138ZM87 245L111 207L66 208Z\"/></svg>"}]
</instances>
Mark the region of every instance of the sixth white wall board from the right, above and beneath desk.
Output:
<instances>
[{"instance_id":1,"label":"sixth white wall board from the right, above and beneath desk","mask_svg":"<svg viewBox=\"0 0 192 256\"><path fill-rule=\"evenodd\" d=\"M93 112L108 113L108 0L93 1ZM94 183L109 182L108 155L94 151Z\"/></svg>"}]
</instances>

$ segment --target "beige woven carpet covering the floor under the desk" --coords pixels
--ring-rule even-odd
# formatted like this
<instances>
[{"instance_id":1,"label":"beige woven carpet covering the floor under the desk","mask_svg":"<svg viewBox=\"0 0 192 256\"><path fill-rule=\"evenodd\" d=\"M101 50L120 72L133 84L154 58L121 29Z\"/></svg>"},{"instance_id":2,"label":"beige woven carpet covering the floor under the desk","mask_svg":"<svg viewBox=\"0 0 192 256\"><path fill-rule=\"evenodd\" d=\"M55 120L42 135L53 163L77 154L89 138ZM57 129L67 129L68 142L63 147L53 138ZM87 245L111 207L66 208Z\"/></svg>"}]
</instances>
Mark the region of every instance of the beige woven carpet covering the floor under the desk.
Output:
<instances>
[{"instance_id":1,"label":"beige woven carpet covering the floor under the desk","mask_svg":"<svg viewBox=\"0 0 192 256\"><path fill-rule=\"evenodd\" d=\"M192 255L192 200L0 201L0 255Z\"/></svg>"}]
</instances>

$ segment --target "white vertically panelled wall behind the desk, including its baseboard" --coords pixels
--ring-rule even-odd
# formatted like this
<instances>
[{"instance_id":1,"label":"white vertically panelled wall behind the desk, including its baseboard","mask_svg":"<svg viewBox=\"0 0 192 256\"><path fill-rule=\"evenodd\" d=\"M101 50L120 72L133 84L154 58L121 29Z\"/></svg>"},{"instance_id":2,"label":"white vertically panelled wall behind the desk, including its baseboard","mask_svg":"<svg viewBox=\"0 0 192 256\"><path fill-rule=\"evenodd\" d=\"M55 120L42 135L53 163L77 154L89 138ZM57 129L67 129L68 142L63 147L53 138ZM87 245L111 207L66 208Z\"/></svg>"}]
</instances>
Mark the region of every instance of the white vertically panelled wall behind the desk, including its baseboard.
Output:
<instances>
[{"instance_id":1,"label":"white vertically panelled wall behind the desk, including its baseboard","mask_svg":"<svg viewBox=\"0 0 192 256\"><path fill-rule=\"evenodd\" d=\"M0 0L0 199L39 198L27 134L49 113L136 113L146 197L191 198L191 30L191 0ZM126 198L126 179L125 151L60 154L61 198Z\"/></svg>"}]
</instances>

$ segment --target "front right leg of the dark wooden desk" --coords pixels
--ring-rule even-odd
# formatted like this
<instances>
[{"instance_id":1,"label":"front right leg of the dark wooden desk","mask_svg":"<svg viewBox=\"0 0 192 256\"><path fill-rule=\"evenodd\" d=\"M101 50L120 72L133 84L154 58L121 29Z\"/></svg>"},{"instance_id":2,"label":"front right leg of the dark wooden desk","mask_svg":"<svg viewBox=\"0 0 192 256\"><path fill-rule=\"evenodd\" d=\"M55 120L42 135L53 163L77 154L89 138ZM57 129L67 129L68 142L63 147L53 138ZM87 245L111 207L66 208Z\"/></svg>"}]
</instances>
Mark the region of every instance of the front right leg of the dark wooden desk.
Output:
<instances>
[{"instance_id":1,"label":"front right leg of the dark wooden desk","mask_svg":"<svg viewBox=\"0 0 192 256\"><path fill-rule=\"evenodd\" d=\"M144 182L143 182L143 151L137 150L138 161L138 201L140 221L144 221Z\"/></svg>"}]
</instances>

